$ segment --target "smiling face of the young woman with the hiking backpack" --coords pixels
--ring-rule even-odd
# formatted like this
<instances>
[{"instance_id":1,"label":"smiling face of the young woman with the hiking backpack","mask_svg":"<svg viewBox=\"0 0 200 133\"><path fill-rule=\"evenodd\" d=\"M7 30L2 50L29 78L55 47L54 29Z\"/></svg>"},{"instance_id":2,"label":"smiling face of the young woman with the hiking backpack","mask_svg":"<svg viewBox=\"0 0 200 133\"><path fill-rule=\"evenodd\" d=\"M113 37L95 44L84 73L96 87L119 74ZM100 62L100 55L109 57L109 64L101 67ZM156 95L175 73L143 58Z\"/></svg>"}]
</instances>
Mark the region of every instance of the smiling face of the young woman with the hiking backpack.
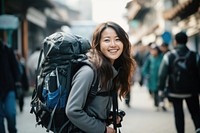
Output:
<instances>
[{"instance_id":1,"label":"smiling face of the young woman with the hiking backpack","mask_svg":"<svg viewBox=\"0 0 200 133\"><path fill-rule=\"evenodd\" d=\"M110 59L112 64L122 54L123 43L120 41L114 29L108 27L102 32L100 50Z\"/></svg>"}]
</instances>

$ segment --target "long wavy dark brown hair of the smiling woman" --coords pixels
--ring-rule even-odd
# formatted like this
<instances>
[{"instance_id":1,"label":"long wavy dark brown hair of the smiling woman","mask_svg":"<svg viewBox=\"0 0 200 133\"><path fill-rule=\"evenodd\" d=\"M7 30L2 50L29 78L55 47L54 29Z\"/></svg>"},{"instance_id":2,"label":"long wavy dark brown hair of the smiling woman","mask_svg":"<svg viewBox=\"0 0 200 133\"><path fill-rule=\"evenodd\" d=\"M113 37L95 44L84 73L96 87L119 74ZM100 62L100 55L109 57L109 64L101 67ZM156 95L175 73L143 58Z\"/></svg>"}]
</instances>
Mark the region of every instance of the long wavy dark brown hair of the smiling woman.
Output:
<instances>
[{"instance_id":1,"label":"long wavy dark brown hair of the smiling woman","mask_svg":"<svg viewBox=\"0 0 200 133\"><path fill-rule=\"evenodd\" d=\"M100 50L100 39L102 32L106 28L115 30L120 41L123 43L123 52L118 59L115 60L113 66L119 71L114 80L115 89L119 91L120 97L124 97L131 87L131 79L136 69L136 63L131 56L131 43L128 34L121 26L114 22L101 23L97 26L92 37L92 55L91 61L97 66L97 70L101 75L101 85L106 88L108 81L113 77L112 64Z\"/></svg>"}]
</instances>

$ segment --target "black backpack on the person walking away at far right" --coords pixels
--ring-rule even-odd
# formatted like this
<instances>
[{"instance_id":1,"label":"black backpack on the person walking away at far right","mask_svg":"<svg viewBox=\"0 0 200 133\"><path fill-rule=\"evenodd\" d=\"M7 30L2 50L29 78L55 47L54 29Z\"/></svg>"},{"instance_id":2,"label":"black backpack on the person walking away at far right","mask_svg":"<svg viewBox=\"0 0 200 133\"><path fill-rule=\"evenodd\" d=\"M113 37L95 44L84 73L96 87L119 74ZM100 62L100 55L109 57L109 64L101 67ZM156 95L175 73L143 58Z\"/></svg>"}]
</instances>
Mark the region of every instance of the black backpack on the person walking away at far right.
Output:
<instances>
[{"instance_id":1,"label":"black backpack on the person walking away at far right","mask_svg":"<svg viewBox=\"0 0 200 133\"><path fill-rule=\"evenodd\" d=\"M178 94L193 93L198 88L198 70L196 53L188 51L181 56L172 51L174 59L171 63L170 84L173 92Z\"/></svg>"}]
</instances>

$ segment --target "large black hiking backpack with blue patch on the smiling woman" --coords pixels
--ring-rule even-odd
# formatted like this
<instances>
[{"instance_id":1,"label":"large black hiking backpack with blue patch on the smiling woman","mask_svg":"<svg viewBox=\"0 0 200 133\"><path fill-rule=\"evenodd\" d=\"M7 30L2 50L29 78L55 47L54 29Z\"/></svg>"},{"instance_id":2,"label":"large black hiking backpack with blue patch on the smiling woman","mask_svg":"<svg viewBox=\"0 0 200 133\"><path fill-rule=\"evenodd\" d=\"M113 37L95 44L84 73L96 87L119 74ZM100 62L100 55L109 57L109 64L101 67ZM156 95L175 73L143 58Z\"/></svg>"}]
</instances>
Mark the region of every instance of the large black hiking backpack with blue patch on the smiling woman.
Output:
<instances>
[{"instance_id":1,"label":"large black hiking backpack with blue patch on the smiling woman","mask_svg":"<svg viewBox=\"0 0 200 133\"><path fill-rule=\"evenodd\" d=\"M31 113L35 114L37 124L45 127L47 132L78 132L67 118L65 106L72 77L83 65L90 66L95 75L86 106L97 93L97 72L86 56L90 47L88 40L70 33L56 32L44 39L36 72L36 88L32 94Z\"/></svg>"}]
</instances>

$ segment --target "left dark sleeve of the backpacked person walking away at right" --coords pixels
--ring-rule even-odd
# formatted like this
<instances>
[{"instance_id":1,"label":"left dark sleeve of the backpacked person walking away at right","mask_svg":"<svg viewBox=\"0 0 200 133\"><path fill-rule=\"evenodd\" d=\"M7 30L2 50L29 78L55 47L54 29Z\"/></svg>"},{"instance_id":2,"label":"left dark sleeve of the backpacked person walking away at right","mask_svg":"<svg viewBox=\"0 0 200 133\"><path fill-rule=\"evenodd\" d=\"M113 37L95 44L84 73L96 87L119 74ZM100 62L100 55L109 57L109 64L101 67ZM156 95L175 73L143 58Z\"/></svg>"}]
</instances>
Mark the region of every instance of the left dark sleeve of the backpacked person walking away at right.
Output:
<instances>
[{"instance_id":1,"label":"left dark sleeve of the backpacked person walking away at right","mask_svg":"<svg viewBox=\"0 0 200 133\"><path fill-rule=\"evenodd\" d=\"M165 85L166 85L166 80L167 80L167 76L169 74L169 59L168 59L168 54L165 54L160 67L159 67L159 71L158 71L158 90L160 91L164 91L165 89Z\"/></svg>"}]
</instances>

